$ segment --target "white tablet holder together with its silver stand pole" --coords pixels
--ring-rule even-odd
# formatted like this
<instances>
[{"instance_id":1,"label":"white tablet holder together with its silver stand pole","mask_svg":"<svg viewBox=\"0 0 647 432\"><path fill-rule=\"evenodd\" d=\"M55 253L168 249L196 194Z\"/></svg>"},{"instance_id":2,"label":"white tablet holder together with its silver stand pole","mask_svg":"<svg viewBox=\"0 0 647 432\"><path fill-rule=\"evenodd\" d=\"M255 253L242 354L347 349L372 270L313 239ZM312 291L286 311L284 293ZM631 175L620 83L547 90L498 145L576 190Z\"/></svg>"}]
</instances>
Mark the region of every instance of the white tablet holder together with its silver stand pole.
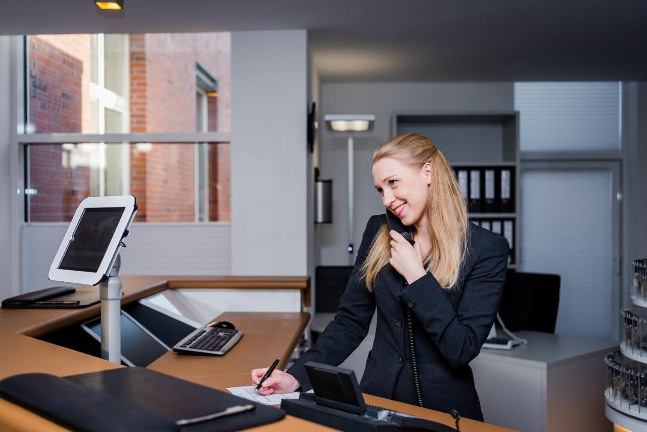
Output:
<instances>
[{"instance_id":1,"label":"white tablet holder together with its silver stand pole","mask_svg":"<svg viewBox=\"0 0 647 432\"><path fill-rule=\"evenodd\" d=\"M121 363L119 251L136 212L131 195L83 199L49 269L50 280L99 285L101 357L115 363Z\"/></svg>"}]
</instances>

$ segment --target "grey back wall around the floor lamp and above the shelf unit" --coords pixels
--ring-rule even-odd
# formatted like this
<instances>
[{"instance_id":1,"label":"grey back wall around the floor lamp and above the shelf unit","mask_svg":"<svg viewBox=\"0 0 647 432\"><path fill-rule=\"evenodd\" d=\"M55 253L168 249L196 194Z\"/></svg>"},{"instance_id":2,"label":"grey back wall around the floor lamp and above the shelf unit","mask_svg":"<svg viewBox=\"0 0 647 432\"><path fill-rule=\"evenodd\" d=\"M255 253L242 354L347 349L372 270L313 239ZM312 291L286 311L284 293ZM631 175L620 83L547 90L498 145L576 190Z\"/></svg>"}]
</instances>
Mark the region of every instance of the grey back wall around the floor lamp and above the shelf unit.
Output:
<instances>
[{"instance_id":1,"label":"grey back wall around the floor lamp and above the shelf unit","mask_svg":"<svg viewBox=\"0 0 647 432\"><path fill-rule=\"evenodd\" d=\"M324 114L375 114L375 128L355 135L355 249L366 222L384 211L373 187L371 158L379 144L392 135L394 112L479 111L514 108L511 82L494 83L324 83ZM333 223L318 227L320 264L347 265L347 156L346 135L321 124L322 178L333 179Z\"/></svg>"}]
</instances>

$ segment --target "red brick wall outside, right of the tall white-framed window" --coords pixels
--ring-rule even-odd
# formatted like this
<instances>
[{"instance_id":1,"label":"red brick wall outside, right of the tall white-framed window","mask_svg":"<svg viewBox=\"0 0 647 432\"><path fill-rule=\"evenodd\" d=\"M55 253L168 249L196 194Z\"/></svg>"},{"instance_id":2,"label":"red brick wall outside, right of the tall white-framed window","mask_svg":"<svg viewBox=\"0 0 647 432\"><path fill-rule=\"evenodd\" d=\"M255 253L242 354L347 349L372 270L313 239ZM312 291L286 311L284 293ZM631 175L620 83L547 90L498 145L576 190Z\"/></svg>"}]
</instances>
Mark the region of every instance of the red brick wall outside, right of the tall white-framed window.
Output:
<instances>
[{"instance_id":1,"label":"red brick wall outside, right of the tall white-framed window","mask_svg":"<svg viewBox=\"0 0 647 432\"><path fill-rule=\"evenodd\" d=\"M215 55L214 55L215 52ZM228 34L131 35L131 131L195 131L195 61L218 80L220 94L208 101L208 129L228 128ZM219 116L220 109L225 110ZM220 188L210 187L210 220L229 220L229 176L210 157L209 172L223 173ZM226 163L228 163L228 158ZM227 168L228 169L228 168ZM210 176L212 177L212 176ZM221 192L226 188L226 192ZM141 203L136 220L195 221L195 146L153 144L151 152L131 151L131 193ZM216 194L225 194L219 198ZM223 209L214 206L225 205ZM217 219L214 218L218 217Z\"/></svg>"}]
</instances>

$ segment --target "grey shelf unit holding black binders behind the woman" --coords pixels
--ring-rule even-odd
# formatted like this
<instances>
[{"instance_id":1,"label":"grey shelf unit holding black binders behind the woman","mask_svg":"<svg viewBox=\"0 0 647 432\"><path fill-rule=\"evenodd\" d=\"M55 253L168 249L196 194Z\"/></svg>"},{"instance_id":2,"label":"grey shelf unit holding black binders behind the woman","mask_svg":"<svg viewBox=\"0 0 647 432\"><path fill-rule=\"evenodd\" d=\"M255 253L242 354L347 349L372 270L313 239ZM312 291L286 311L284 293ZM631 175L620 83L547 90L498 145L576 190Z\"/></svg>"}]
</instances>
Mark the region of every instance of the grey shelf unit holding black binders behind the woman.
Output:
<instances>
[{"instance_id":1,"label":"grey shelf unit holding black binders behind the woman","mask_svg":"<svg viewBox=\"0 0 647 432\"><path fill-rule=\"evenodd\" d=\"M421 133L454 167L512 168L512 212L470 212L470 220L512 220L511 269L521 264L521 193L518 111L393 113L391 135ZM483 198L481 196L481 198Z\"/></svg>"}]
</instances>

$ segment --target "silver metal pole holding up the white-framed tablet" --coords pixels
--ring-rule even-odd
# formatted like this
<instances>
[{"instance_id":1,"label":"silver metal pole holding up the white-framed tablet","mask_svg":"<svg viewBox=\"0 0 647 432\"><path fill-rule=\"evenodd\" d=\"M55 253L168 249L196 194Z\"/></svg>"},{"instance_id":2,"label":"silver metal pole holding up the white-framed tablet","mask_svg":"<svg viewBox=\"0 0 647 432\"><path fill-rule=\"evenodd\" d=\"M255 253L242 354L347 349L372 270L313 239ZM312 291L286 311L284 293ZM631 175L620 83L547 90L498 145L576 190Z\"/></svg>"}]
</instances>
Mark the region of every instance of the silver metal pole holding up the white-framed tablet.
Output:
<instances>
[{"instance_id":1,"label":"silver metal pole holding up the white-framed tablet","mask_svg":"<svg viewBox=\"0 0 647 432\"><path fill-rule=\"evenodd\" d=\"M105 282L99 284L101 299L101 358L121 363L121 299L122 280L119 277L121 256L117 254L115 264Z\"/></svg>"}]
</instances>

